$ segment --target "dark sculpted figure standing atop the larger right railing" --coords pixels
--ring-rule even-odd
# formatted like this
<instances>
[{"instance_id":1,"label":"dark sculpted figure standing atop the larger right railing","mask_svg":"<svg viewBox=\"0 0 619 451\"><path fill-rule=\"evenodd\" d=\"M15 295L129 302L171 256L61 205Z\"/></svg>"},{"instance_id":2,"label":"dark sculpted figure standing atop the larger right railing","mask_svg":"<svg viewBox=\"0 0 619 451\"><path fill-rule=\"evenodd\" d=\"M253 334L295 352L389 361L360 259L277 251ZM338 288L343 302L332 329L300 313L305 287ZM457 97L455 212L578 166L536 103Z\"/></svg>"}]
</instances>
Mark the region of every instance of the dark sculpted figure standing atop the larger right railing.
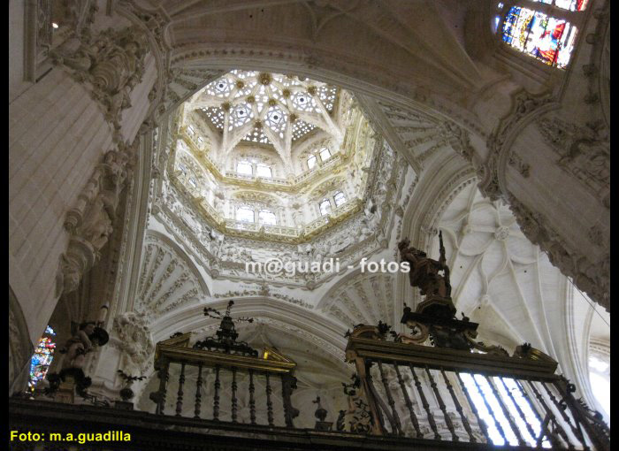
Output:
<instances>
[{"instance_id":1,"label":"dark sculpted figure standing atop the larger right railing","mask_svg":"<svg viewBox=\"0 0 619 451\"><path fill-rule=\"evenodd\" d=\"M424 251L410 246L409 239L398 243L402 262L409 262L409 279L412 287L419 287L422 295L449 297L449 268L445 264L444 250L441 251L440 261L429 258ZM442 248L442 237L441 237ZM443 273L440 274L440 271Z\"/></svg>"}]
</instances>

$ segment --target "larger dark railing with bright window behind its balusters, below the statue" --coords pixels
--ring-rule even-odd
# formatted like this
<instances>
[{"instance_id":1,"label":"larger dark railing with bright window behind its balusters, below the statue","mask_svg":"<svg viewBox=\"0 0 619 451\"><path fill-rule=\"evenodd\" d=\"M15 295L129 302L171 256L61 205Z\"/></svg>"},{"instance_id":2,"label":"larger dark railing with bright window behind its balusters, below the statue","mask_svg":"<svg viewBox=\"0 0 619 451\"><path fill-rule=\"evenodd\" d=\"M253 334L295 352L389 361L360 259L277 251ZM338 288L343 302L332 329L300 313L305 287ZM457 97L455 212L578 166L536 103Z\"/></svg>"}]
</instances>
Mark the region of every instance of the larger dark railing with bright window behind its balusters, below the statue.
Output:
<instances>
[{"instance_id":1,"label":"larger dark railing with bright window behind its balusters, below the statue","mask_svg":"<svg viewBox=\"0 0 619 451\"><path fill-rule=\"evenodd\" d=\"M349 334L347 360L355 363L354 386L367 405L371 433L610 449L608 426L573 396L575 387L539 350L525 344L510 356L486 347L474 340L478 325L466 319L407 308L402 322L413 333L389 333L379 324L358 325ZM428 342L434 346L421 344Z\"/></svg>"}]
</instances>

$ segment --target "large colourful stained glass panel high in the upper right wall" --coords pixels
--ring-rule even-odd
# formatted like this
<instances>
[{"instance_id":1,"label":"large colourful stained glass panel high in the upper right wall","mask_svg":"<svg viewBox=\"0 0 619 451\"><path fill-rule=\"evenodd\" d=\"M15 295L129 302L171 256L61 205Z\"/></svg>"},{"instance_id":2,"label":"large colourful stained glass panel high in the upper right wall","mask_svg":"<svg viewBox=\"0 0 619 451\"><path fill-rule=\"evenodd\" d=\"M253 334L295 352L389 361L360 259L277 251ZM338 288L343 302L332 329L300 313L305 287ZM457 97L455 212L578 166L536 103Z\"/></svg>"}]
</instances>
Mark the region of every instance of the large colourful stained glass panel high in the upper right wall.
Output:
<instances>
[{"instance_id":1,"label":"large colourful stained glass panel high in the upper right wall","mask_svg":"<svg viewBox=\"0 0 619 451\"><path fill-rule=\"evenodd\" d=\"M577 28L567 20L521 6L509 9L502 30L503 42L509 46L560 68L569 63L576 35Z\"/></svg>"}]
</instances>

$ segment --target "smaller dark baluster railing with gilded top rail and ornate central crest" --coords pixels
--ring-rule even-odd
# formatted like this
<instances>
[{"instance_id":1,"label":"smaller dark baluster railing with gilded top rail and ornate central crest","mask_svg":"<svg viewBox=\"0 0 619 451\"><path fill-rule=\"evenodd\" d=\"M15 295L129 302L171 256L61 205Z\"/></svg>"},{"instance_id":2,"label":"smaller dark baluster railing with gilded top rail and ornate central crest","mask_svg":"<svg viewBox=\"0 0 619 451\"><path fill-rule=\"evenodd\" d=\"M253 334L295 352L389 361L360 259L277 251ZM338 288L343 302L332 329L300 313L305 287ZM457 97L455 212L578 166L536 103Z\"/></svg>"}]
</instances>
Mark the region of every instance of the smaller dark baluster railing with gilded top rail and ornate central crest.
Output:
<instances>
[{"instance_id":1,"label":"smaller dark baluster railing with gilded top rail and ornate central crest","mask_svg":"<svg viewBox=\"0 0 619 451\"><path fill-rule=\"evenodd\" d=\"M299 414L290 399L296 388L296 363L271 348L266 348L258 356L258 352L247 343L237 341L238 334L230 317L232 305L233 302L230 302L228 310L221 316L222 324L216 337L197 341L192 347L189 347L190 333L178 334L157 343L155 369L159 387L150 394L150 399L157 405L156 413L166 413L166 400L172 396L175 400L174 415L187 416L187 395L193 395L189 410L194 418L237 423L240 419L239 400L242 398L248 401L245 406L248 424L258 424L257 418L264 417L266 425L292 428L294 417ZM213 311L206 309L205 314L212 315ZM245 319L250 320L241 318ZM172 371L174 367L178 371ZM175 389L169 393L171 374L176 372ZM189 373L195 378L187 380ZM207 379L212 384L212 395L208 400L211 408L203 409L203 387ZM262 388L264 393L258 394L258 388ZM262 406L258 404L258 398L263 401ZM277 402L279 405L275 405ZM280 418L283 424L274 417L274 412L283 412Z\"/></svg>"}]
</instances>

